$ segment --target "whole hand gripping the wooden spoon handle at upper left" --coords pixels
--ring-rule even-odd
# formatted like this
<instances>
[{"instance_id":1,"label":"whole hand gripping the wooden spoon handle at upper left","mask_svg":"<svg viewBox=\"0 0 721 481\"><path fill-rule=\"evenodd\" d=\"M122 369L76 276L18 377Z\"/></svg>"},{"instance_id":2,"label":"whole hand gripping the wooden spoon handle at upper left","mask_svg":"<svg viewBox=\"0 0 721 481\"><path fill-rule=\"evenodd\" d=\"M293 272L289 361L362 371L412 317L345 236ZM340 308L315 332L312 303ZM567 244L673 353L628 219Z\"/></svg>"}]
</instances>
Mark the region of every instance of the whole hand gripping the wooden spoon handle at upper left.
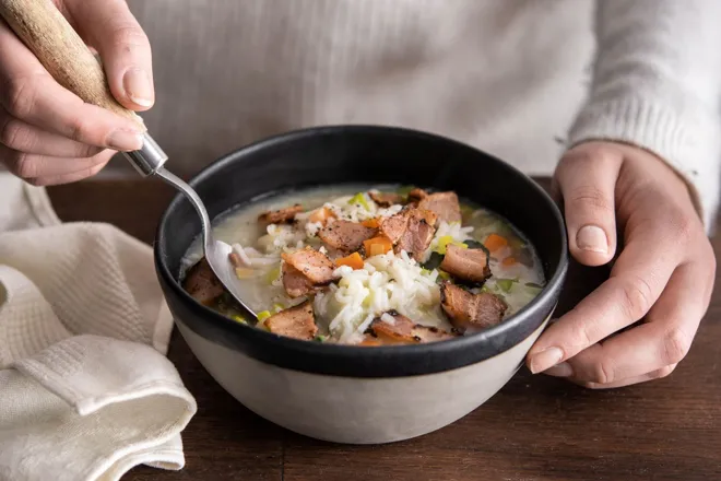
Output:
<instances>
[{"instance_id":1,"label":"whole hand gripping the wooden spoon handle at upper left","mask_svg":"<svg viewBox=\"0 0 721 481\"><path fill-rule=\"evenodd\" d=\"M125 0L55 0L103 59L115 98L140 112L154 103L151 48ZM58 84L0 19L0 162L37 186L97 174L117 151L142 146L130 119Z\"/></svg>"}]
</instances>

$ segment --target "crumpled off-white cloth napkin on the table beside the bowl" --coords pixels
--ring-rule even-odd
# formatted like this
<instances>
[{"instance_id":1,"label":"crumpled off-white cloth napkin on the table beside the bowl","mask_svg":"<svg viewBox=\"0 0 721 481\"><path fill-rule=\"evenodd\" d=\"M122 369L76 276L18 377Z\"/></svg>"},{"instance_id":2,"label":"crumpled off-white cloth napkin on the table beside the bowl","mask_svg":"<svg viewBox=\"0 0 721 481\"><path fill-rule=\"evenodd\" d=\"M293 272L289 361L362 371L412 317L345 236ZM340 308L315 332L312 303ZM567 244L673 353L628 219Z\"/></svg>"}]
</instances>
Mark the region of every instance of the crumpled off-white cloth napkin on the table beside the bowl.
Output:
<instances>
[{"instance_id":1,"label":"crumpled off-white cloth napkin on the table beside the bowl","mask_svg":"<svg viewBox=\"0 0 721 481\"><path fill-rule=\"evenodd\" d=\"M44 189L0 174L1 481L181 469L197 406L172 328L150 246L61 224Z\"/></svg>"}]
</instances>

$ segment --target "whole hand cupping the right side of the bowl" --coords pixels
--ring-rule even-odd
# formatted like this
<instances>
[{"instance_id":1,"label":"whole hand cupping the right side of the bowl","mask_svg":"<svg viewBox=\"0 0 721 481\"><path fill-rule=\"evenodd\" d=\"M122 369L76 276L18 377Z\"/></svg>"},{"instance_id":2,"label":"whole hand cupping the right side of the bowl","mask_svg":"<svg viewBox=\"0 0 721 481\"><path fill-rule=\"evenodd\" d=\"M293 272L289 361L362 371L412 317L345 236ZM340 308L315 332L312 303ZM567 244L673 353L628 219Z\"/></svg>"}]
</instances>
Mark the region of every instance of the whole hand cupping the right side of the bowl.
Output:
<instances>
[{"instance_id":1,"label":"whole hand cupping the right side of the bowl","mask_svg":"<svg viewBox=\"0 0 721 481\"><path fill-rule=\"evenodd\" d=\"M625 246L610 279L539 338L529 368L591 388L667 376L688 353L716 277L687 185L650 152L613 142L571 149L554 180L576 260L610 262L617 225Z\"/></svg>"}]
</instances>

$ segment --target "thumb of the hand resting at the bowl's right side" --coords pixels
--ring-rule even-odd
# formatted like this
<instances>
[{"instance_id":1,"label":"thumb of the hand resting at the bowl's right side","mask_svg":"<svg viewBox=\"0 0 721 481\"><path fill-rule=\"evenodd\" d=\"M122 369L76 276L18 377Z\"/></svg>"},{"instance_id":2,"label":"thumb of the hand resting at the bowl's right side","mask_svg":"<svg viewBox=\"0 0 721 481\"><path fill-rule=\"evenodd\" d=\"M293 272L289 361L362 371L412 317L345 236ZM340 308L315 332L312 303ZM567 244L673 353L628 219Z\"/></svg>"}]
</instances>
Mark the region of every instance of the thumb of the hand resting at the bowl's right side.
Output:
<instances>
[{"instance_id":1,"label":"thumb of the hand resting at the bowl's right side","mask_svg":"<svg viewBox=\"0 0 721 481\"><path fill-rule=\"evenodd\" d=\"M589 142L566 152L556 168L569 249L582 265L602 266L616 251L614 192L622 162L613 145Z\"/></svg>"}]
</instances>

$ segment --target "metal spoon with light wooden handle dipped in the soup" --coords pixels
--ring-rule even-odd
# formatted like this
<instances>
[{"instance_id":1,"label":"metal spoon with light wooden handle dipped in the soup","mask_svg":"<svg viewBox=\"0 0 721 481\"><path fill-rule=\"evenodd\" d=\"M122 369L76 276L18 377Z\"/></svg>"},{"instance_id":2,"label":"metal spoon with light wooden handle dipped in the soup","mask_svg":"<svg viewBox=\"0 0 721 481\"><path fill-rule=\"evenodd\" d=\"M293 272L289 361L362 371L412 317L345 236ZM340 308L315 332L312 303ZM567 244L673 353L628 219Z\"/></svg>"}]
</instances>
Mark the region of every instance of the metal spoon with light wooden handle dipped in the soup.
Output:
<instances>
[{"instance_id":1,"label":"metal spoon with light wooden handle dipped in the soup","mask_svg":"<svg viewBox=\"0 0 721 481\"><path fill-rule=\"evenodd\" d=\"M125 157L143 176L156 176L182 192L200 215L203 251L213 273L235 297L245 315L258 319L243 301L241 289L228 255L233 248L213 237L213 230L203 201L182 179L165 168L168 156L147 132L143 120L120 105L107 84L98 59L50 0L0 0L0 15L15 35L35 54L52 78L85 103L107 108L134 120L143 134L143 146L123 152Z\"/></svg>"}]
</instances>

